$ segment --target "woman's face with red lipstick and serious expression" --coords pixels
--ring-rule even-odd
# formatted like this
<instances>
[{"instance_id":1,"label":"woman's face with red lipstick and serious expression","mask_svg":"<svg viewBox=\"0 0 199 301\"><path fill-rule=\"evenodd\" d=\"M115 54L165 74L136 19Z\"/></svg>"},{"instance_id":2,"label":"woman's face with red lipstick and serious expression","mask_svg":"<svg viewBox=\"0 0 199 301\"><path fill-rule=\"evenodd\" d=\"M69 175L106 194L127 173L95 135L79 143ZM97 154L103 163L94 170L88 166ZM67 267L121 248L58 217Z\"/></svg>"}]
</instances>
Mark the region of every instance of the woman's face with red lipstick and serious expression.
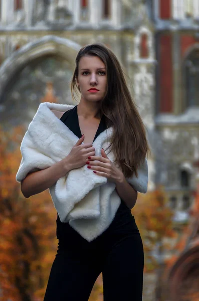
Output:
<instances>
[{"instance_id":1,"label":"woman's face with red lipstick and serious expression","mask_svg":"<svg viewBox=\"0 0 199 301\"><path fill-rule=\"evenodd\" d=\"M78 66L78 80L82 97L87 101L100 101L107 88L104 63L97 56L84 56Z\"/></svg>"}]
</instances>

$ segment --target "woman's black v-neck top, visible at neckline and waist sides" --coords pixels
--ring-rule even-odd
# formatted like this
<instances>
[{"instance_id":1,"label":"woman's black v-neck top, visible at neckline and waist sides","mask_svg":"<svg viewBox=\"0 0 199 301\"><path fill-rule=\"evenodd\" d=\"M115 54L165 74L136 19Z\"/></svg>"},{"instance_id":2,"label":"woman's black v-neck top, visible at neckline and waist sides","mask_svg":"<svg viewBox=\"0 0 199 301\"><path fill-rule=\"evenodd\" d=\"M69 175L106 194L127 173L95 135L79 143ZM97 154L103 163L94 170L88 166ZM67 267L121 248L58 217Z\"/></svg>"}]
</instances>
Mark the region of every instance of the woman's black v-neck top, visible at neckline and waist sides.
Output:
<instances>
[{"instance_id":1,"label":"woman's black v-neck top, visible at neckline and waist sides","mask_svg":"<svg viewBox=\"0 0 199 301\"><path fill-rule=\"evenodd\" d=\"M82 133L79 126L79 120L78 120L78 114L77 114L77 105L66 111L62 117L60 118L64 124L77 136L81 137ZM100 120L98 129L96 131L94 140L97 138L97 136L103 132L107 128L106 126L106 118L104 115L102 115L102 118ZM118 225L122 225L121 227L118 227ZM134 231L137 230L137 226L135 224L134 217L131 215L130 209L126 206L124 201L121 200L121 205L118 208L116 215L114 217L113 222L111 223L111 227L109 228L115 228L117 231ZM118 230L119 229L119 230ZM76 236L77 239L77 232L69 225L69 223L63 223L60 221L59 215L57 215L57 238L60 239L61 237L68 237L68 236Z\"/></svg>"}]
</instances>

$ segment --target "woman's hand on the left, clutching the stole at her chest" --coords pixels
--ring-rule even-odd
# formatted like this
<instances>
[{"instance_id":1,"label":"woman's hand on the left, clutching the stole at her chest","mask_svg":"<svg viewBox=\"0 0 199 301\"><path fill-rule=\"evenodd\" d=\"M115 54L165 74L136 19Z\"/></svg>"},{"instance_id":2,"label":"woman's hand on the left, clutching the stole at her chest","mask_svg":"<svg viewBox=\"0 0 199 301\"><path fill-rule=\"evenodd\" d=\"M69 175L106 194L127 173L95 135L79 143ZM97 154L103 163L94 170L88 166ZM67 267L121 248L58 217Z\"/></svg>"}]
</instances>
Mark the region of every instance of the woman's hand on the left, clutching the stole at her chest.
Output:
<instances>
[{"instance_id":1,"label":"woman's hand on the left, clutching the stole at her chest","mask_svg":"<svg viewBox=\"0 0 199 301\"><path fill-rule=\"evenodd\" d=\"M77 141L77 143L71 149L69 155L65 158L71 169L80 168L86 165L88 157L95 156L95 147L92 143L84 143L84 135Z\"/></svg>"}]
</instances>

